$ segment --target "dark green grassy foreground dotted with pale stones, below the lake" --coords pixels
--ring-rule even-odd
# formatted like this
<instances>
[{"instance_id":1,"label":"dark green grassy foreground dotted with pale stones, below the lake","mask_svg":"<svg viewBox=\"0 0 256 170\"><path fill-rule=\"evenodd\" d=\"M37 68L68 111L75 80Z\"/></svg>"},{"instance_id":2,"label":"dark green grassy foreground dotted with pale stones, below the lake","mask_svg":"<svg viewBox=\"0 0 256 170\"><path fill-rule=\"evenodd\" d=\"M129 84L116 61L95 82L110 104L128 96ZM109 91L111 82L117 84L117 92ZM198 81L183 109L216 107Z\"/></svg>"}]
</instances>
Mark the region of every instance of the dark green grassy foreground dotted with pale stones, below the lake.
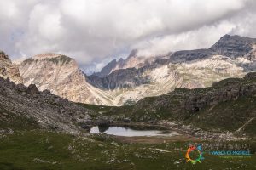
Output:
<instances>
[{"instance_id":1,"label":"dark green grassy foreground dotted with pale stones, below the lake","mask_svg":"<svg viewBox=\"0 0 256 170\"><path fill-rule=\"evenodd\" d=\"M254 142L243 141L252 153ZM188 142L166 144L125 144L108 136L75 137L64 133L45 131L20 132L0 140L0 169L255 169L256 156L224 159L207 153L210 148L202 141L204 157L192 165L185 161ZM227 144L224 144L227 145ZM224 150L224 148L218 148Z\"/></svg>"}]
</instances>

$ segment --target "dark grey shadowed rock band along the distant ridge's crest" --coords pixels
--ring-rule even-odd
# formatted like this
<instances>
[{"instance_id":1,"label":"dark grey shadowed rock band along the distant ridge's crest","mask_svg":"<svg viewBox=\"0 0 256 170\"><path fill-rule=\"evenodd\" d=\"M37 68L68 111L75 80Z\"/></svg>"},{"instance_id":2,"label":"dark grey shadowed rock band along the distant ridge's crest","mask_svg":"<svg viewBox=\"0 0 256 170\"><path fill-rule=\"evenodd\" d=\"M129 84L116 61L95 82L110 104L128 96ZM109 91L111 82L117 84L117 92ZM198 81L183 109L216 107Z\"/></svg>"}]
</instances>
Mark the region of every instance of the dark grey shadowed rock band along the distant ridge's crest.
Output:
<instances>
[{"instance_id":1,"label":"dark grey shadowed rock band along the distant ridge's crest","mask_svg":"<svg viewBox=\"0 0 256 170\"><path fill-rule=\"evenodd\" d=\"M222 59L224 60L229 58L236 59L238 57L242 57L250 61L252 59L255 59L255 43L256 39L253 38L225 35L224 37L221 37L216 44L214 44L211 48L208 49L177 51L173 54L170 54L165 59L156 59L155 62L148 65L143 65L143 67L140 68L127 68L129 71L127 69L119 69L109 73L104 77L90 76L88 77L88 79L89 82L97 88L132 88L132 85L137 86L140 84L150 82L149 79L148 81L144 80L147 79L147 77L141 77L141 75L143 75L143 71L155 69L157 67L160 67L161 65L182 64L186 62L193 62L195 60L210 59L212 56L215 56L215 59L217 59L219 58L217 56L225 56L224 54L227 54L226 57L228 57L222 57ZM252 54L249 54L250 52L252 52ZM110 64L113 64L113 61L110 62L109 65ZM241 65L243 65L245 69L249 68L247 64L248 63L241 62ZM252 67L250 69L251 71L253 71L256 68L255 62L250 63L249 65L251 65ZM128 77L127 74L130 74L131 77ZM118 79L119 81L114 81L114 78ZM120 81L120 79L122 79L122 81ZM142 81L137 81L138 79Z\"/></svg>"}]
</instances>

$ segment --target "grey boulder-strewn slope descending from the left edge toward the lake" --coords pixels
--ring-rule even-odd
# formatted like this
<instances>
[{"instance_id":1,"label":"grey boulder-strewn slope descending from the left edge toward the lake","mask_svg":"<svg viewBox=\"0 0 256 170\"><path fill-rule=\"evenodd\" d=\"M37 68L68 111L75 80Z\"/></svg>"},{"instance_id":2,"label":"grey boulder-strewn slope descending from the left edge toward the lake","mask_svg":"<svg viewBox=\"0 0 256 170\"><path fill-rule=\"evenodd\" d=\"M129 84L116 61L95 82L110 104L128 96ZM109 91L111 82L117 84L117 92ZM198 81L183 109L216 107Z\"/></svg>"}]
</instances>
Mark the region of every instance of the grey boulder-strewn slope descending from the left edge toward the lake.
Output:
<instances>
[{"instance_id":1,"label":"grey boulder-strewn slope descending from the left edge toward the lake","mask_svg":"<svg viewBox=\"0 0 256 170\"><path fill-rule=\"evenodd\" d=\"M93 115L94 111L50 94L49 90L40 92L33 84L16 85L0 77L0 128L46 128L78 134L79 124L90 121Z\"/></svg>"}]
</instances>

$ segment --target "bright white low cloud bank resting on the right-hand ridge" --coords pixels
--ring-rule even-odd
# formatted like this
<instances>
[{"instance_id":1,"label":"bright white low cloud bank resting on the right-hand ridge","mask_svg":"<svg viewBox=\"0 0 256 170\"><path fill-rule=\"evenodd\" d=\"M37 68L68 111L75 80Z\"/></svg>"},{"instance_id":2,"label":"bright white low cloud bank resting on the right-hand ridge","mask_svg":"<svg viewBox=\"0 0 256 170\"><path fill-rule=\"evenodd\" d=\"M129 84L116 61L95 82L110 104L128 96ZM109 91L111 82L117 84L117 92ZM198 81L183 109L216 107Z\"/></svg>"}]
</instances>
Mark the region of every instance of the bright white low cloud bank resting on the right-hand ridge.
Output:
<instances>
[{"instance_id":1,"label":"bright white low cloud bank resting on the right-hand ridge","mask_svg":"<svg viewBox=\"0 0 256 170\"><path fill-rule=\"evenodd\" d=\"M180 34L154 37L148 41L134 44L134 48L140 48L138 55L146 57L165 55L177 50L210 48L214 42L218 41L219 37L224 36L224 34L231 33L234 28L236 28L236 25L227 21L222 21Z\"/></svg>"}]
</instances>

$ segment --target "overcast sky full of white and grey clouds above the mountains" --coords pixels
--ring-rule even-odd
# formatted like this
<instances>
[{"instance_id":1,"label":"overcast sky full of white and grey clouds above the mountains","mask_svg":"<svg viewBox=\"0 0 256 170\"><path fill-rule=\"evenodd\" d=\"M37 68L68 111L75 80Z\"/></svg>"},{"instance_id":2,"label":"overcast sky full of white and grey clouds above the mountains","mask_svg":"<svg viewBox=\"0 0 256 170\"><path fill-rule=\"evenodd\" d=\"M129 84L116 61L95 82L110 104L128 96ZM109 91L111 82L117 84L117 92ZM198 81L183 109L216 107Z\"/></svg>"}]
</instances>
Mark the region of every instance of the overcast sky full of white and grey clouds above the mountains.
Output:
<instances>
[{"instance_id":1,"label":"overcast sky full of white and grey clouds above the mountains","mask_svg":"<svg viewBox=\"0 0 256 170\"><path fill-rule=\"evenodd\" d=\"M254 0L0 0L0 49L11 59L66 54L87 73L139 49L145 57L256 37Z\"/></svg>"}]
</instances>

